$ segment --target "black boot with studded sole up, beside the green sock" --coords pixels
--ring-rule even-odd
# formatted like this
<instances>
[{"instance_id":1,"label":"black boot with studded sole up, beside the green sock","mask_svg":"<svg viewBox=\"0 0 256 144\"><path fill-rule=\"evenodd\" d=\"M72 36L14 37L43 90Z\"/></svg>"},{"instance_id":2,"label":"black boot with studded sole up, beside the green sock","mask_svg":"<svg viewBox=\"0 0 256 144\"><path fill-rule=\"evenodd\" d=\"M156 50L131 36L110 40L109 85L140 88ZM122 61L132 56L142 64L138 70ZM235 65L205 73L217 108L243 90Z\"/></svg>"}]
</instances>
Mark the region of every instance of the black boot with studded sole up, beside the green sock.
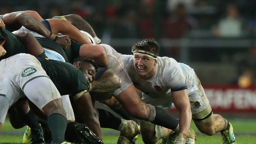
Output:
<instances>
[{"instance_id":1,"label":"black boot with studded sole up, beside the green sock","mask_svg":"<svg viewBox=\"0 0 256 144\"><path fill-rule=\"evenodd\" d=\"M96 134L94 134L85 124L73 123L69 125L65 133L65 139L73 143L83 144L103 144Z\"/></svg>"}]
</instances>

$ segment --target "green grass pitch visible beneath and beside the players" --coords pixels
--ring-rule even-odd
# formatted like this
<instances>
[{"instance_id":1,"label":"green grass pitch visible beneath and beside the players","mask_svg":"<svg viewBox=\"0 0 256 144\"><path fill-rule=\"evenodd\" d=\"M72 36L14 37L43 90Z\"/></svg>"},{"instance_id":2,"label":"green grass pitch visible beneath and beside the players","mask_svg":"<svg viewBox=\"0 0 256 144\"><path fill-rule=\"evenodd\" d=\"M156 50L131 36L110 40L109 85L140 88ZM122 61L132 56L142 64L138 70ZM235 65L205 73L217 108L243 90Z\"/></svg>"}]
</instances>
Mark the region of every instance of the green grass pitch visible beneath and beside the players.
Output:
<instances>
[{"instance_id":1,"label":"green grass pitch visible beneath and beside the players","mask_svg":"<svg viewBox=\"0 0 256 144\"><path fill-rule=\"evenodd\" d=\"M234 132L236 135L236 140L238 144L255 144L256 142L256 122L255 120L246 120L246 119L234 119L230 120L234 127ZM195 127L194 123L191 123L191 127L197 133L197 140L196 144L220 144L221 143L221 136L220 134L216 134L214 136L206 136L201 134L197 128ZM7 133L7 132L24 132L25 127L21 129L14 129L10 125L9 121L5 121L3 129L0 133ZM110 129L102 129L105 132L111 132L115 130ZM248 135L247 135L248 134ZM23 135L0 135L0 144L20 144L22 143ZM118 135L112 136L104 136L103 141L104 144L114 144L118 139ZM139 135L136 144L143 144L142 138Z\"/></svg>"}]
</instances>

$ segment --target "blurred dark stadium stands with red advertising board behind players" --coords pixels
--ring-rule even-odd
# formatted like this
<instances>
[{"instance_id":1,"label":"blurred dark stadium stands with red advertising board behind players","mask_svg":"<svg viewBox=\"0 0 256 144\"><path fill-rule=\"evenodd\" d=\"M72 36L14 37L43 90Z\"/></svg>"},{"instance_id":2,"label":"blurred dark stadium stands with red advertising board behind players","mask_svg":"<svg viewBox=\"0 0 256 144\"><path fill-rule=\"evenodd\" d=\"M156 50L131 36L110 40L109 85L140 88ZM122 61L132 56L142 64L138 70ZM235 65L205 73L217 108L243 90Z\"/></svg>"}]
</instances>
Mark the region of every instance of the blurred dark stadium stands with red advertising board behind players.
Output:
<instances>
[{"instance_id":1,"label":"blurred dark stadium stands with red advertising board behind players","mask_svg":"<svg viewBox=\"0 0 256 144\"><path fill-rule=\"evenodd\" d=\"M0 14L22 10L44 19L78 14L103 43L123 54L131 54L140 39L155 38L160 56L195 70L215 113L234 120L256 117L255 0L1 1Z\"/></svg>"}]
</instances>

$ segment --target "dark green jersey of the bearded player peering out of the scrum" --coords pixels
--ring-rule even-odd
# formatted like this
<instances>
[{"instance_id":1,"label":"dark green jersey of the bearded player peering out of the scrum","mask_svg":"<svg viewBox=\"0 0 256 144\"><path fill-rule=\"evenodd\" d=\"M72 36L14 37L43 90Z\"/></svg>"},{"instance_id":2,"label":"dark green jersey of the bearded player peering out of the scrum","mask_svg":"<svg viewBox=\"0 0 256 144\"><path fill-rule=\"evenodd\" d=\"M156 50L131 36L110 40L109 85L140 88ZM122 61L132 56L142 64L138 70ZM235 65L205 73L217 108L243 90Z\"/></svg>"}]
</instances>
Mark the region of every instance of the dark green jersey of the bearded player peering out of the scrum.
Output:
<instances>
[{"instance_id":1,"label":"dark green jersey of the bearded player peering out of the scrum","mask_svg":"<svg viewBox=\"0 0 256 144\"><path fill-rule=\"evenodd\" d=\"M72 64L46 60L41 57L37 57L37 59L61 95L76 95L84 90L89 90L89 83L82 71Z\"/></svg>"}]
</instances>

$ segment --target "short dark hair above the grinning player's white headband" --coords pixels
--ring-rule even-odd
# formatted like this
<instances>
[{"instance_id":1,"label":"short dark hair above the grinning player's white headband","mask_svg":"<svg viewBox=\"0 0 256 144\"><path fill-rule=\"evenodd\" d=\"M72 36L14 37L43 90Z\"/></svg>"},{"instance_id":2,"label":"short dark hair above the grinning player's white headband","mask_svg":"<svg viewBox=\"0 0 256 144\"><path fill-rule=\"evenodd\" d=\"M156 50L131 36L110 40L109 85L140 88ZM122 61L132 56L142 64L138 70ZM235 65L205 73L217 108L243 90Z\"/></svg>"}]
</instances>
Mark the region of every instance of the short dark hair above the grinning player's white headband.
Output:
<instances>
[{"instance_id":1,"label":"short dark hair above the grinning player's white headband","mask_svg":"<svg viewBox=\"0 0 256 144\"><path fill-rule=\"evenodd\" d=\"M150 53L155 54L156 56L159 55L159 44L154 39L143 39L132 46L132 52L136 52L138 50L148 51Z\"/></svg>"}]
</instances>

